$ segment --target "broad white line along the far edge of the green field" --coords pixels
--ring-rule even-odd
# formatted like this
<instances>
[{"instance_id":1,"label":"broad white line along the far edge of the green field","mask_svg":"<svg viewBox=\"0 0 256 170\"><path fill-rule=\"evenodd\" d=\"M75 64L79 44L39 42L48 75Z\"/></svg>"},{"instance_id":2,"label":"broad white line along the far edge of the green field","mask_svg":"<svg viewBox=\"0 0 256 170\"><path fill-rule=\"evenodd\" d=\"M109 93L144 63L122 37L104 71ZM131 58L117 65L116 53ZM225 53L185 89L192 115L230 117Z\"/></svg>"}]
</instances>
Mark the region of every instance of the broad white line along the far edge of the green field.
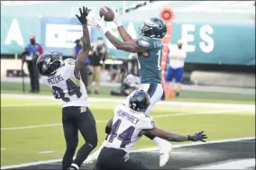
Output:
<instances>
[{"instance_id":1,"label":"broad white line along the far edge of the green field","mask_svg":"<svg viewBox=\"0 0 256 170\"><path fill-rule=\"evenodd\" d=\"M56 101L52 96L50 95L31 95L31 94L1 94L1 97L7 97L7 98L21 98L21 99L48 99L51 101ZM3 99L3 98L2 98ZM88 102L92 103L123 103L123 99L114 99L114 98L95 98L95 97L88 97ZM24 105L21 106L31 106L32 104L23 103ZM37 104L37 103L33 103ZM40 103L41 104L41 103ZM52 103L53 104L53 103ZM56 103L58 104L58 103ZM60 104L60 103L59 103ZM179 106L194 106L194 107L215 107L215 108L253 108L255 109L255 104L237 104L237 103L194 103L194 102L178 102L178 101L160 101L159 103L156 103L157 105L179 105ZM2 104L1 107L15 107L16 104ZM17 106L19 106L17 104Z\"/></svg>"}]
</instances>

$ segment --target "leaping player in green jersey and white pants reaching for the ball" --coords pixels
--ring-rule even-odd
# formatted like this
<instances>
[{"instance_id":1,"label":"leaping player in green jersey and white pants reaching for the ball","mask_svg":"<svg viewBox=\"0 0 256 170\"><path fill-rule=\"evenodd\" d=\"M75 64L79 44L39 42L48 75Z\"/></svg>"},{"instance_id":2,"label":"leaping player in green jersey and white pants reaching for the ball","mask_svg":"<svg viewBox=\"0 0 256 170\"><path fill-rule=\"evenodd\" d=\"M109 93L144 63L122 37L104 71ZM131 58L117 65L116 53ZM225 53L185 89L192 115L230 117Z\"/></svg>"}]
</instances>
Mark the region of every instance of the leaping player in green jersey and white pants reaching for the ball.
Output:
<instances>
[{"instance_id":1,"label":"leaping player in green jersey and white pants reaching for the ball","mask_svg":"<svg viewBox=\"0 0 256 170\"><path fill-rule=\"evenodd\" d=\"M138 54L138 68L141 78L140 89L148 92L151 96L151 105L145 112L146 114L149 114L155 103L160 101L163 94L160 76L163 49L161 39L166 35L167 26L159 18L150 18L148 21L142 22L142 26L139 30L139 34L142 36L142 38L133 40L129 33L124 30L122 22L118 20L117 13L114 13L114 22L116 23L117 29L124 42L115 38L110 31L107 31L103 20L102 22L89 20L88 25L102 31L105 34L105 37L114 45L116 49ZM129 101L132 94L127 97L126 103ZM152 139L159 145L160 166L164 166L169 160L169 152L172 150L171 144L163 139L155 138L153 136L148 136L148 138ZM91 158L96 158L98 153L99 151L94 153Z\"/></svg>"}]
</instances>

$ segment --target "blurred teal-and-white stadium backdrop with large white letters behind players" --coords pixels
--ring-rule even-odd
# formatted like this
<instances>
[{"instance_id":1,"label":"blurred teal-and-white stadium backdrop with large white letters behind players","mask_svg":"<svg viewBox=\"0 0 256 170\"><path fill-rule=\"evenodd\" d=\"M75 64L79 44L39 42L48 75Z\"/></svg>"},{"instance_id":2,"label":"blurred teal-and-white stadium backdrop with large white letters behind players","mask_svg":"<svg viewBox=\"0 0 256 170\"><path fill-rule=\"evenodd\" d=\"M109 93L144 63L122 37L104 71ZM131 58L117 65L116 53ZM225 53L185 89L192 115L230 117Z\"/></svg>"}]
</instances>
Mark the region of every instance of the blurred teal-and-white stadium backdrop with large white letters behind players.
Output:
<instances>
[{"instance_id":1,"label":"blurred teal-and-white stadium backdrop with large white letters behind players","mask_svg":"<svg viewBox=\"0 0 256 170\"><path fill-rule=\"evenodd\" d=\"M75 41L82 32L75 14L82 5L92 9L96 18L105 4L122 9L123 26L138 38L141 23L160 17L160 10L173 11L169 46L184 41L186 85L255 87L255 3L231 2L156 2L156 1L3 1L1 2L1 81L20 81L21 57L33 35L43 51L58 50L72 58ZM143 14L142 14L143 13ZM138 17L139 16L139 17ZM113 22L106 22L109 31L119 37ZM136 54L117 50L100 31L90 29L91 41L102 37L107 47L101 85L114 82L124 68L137 76ZM169 48L171 49L171 48ZM26 63L26 62L25 62ZM101 61L101 66L103 61ZM23 67L29 82L29 70ZM17 78L14 78L17 77ZM185 87L186 88L186 87Z\"/></svg>"}]
</instances>

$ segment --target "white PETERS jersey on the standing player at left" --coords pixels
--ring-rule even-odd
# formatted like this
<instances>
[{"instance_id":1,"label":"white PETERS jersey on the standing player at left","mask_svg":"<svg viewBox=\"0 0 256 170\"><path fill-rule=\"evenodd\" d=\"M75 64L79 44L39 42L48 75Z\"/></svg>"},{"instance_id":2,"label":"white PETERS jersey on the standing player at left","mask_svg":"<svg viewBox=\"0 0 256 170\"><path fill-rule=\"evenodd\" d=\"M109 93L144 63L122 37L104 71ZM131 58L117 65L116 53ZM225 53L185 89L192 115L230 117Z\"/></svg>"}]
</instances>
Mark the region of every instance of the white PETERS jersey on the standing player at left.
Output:
<instances>
[{"instance_id":1,"label":"white PETERS jersey on the standing player at left","mask_svg":"<svg viewBox=\"0 0 256 170\"><path fill-rule=\"evenodd\" d=\"M63 107L87 106L87 90L82 78L75 76L75 60L67 58L53 76L42 76L56 99L61 99Z\"/></svg>"}]
</instances>

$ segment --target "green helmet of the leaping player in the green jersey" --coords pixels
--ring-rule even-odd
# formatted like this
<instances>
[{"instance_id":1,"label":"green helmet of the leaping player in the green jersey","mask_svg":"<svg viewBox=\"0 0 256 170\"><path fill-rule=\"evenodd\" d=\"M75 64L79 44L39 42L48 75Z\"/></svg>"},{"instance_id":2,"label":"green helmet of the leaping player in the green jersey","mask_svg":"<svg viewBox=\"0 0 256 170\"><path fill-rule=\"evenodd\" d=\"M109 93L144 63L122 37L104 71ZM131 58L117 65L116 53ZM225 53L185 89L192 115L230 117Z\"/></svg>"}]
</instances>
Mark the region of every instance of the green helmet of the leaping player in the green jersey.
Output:
<instances>
[{"instance_id":1,"label":"green helmet of the leaping player in the green jersey","mask_svg":"<svg viewBox=\"0 0 256 170\"><path fill-rule=\"evenodd\" d=\"M149 38L162 39L167 32L165 22L159 18L150 18L147 22L143 22L139 29L139 34Z\"/></svg>"}]
</instances>

